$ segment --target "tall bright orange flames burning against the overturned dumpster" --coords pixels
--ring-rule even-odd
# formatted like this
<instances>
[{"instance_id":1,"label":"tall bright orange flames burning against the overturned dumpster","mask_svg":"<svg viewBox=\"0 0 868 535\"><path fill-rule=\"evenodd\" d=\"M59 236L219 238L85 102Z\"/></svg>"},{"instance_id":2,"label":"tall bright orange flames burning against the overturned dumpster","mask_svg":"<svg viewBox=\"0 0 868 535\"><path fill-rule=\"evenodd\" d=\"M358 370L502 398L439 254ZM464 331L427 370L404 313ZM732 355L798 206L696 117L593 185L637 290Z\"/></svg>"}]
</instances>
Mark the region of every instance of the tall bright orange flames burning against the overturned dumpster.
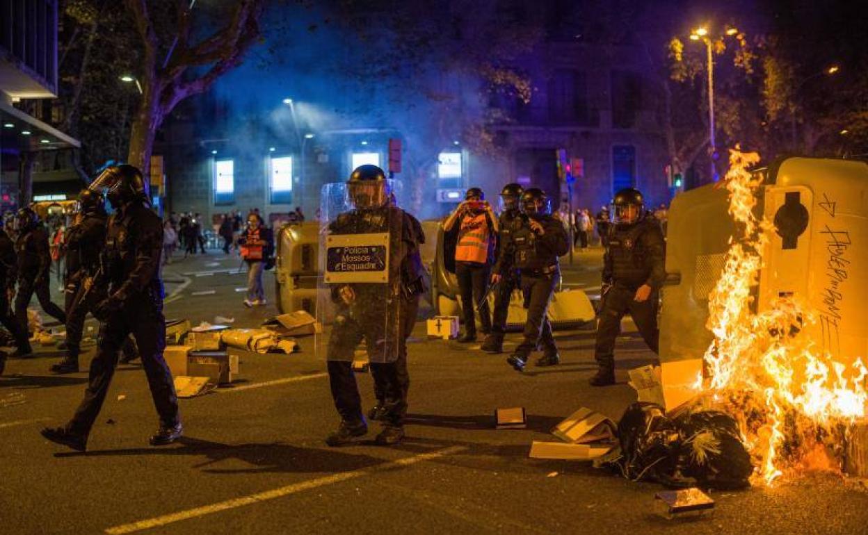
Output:
<instances>
[{"instance_id":1,"label":"tall bright orange flames burning against the overturned dumpster","mask_svg":"<svg viewBox=\"0 0 868 535\"><path fill-rule=\"evenodd\" d=\"M763 251L774 232L755 215L761 182L748 168L758 162L757 153L730 152L725 185L740 235L730 238L709 296L707 328L714 339L704 356L705 388L713 404L740 422L758 461L754 481L771 485L824 451L824 438L840 434L838 424L865 416L868 369L861 360L848 369L818 349L805 329L817 313L799 297L779 297L768 310L757 310Z\"/></svg>"}]
</instances>

